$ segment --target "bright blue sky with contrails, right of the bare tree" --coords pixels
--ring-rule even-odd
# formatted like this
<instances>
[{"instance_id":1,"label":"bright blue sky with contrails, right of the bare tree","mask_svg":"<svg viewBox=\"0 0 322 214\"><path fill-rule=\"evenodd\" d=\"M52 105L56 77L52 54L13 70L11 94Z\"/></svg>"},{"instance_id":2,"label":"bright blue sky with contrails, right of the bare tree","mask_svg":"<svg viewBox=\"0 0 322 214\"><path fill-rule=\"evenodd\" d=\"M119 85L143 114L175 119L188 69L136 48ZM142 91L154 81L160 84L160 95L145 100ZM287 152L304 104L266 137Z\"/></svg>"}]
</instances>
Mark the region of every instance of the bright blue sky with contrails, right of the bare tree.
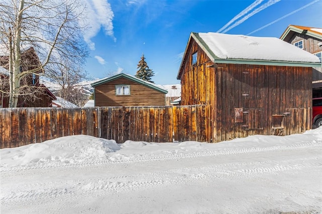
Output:
<instances>
[{"instance_id":1,"label":"bright blue sky with contrails, right of the bare tree","mask_svg":"<svg viewBox=\"0 0 322 214\"><path fill-rule=\"evenodd\" d=\"M135 75L144 53L152 80L162 85L180 83L177 73L191 32L279 38L288 25L322 28L320 0L92 0L87 8L89 76Z\"/></svg>"}]
</instances>

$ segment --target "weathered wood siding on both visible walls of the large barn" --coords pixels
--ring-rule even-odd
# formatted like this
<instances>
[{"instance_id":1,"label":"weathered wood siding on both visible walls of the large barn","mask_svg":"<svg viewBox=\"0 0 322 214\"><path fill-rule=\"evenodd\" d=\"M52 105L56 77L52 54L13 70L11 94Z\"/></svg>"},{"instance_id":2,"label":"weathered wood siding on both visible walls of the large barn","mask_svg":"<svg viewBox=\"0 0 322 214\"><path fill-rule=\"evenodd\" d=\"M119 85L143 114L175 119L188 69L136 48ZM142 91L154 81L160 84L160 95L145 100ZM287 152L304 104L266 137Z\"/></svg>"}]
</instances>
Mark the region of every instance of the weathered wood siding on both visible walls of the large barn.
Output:
<instances>
[{"instance_id":1,"label":"weathered wood siding on both visible walls of the large barn","mask_svg":"<svg viewBox=\"0 0 322 214\"><path fill-rule=\"evenodd\" d=\"M198 62L192 65L192 54ZM213 106L213 142L248 135L288 135L311 128L312 68L217 64L198 44L188 44L181 72L182 104ZM243 117L235 122L235 109ZM282 115L280 117L279 115ZM273 119L283 118L273 128Z\"/></svg>"}]
</instances>

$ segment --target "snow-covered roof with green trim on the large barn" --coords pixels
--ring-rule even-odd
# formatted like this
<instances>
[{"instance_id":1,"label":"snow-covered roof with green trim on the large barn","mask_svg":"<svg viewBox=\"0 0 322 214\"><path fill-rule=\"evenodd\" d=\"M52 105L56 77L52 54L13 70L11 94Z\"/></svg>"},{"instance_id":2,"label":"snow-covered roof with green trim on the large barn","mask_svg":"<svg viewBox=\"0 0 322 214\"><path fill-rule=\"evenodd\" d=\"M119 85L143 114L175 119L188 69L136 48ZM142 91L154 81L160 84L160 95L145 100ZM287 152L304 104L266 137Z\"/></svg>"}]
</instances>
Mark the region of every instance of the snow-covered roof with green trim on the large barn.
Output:
<instances>
[{"instance_id":1,"label":"snow-covered roof with green trim on the large barn","mask_svg":"<svg viewBox=\"0 0 322 214\"><path fill-rule=\"evenodd\" d=\"M274 37L250 37L220 33L191 33L177 79L191 40L195 40L214 63L319 67L319 59L287 42Z\"/></svg>"}]
</instances>

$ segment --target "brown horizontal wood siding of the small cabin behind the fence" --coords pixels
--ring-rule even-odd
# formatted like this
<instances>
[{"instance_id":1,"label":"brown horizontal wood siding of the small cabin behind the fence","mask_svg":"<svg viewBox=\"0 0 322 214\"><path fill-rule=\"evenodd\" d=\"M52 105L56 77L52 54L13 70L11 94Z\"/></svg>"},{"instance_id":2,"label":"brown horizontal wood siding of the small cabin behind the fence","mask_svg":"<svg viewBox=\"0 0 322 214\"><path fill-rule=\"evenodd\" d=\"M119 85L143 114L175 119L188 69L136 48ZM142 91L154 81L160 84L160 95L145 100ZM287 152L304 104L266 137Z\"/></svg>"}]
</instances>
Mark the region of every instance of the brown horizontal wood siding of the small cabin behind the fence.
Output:
<instances>
[{"instance_id":1,"label":"brown horizontal wood siding of the small cabin behind the fence","mask_svg":"<svg viewBox=\"0 0 322 214\"><path fill-rule=\"evenodd\" d=\"M116 96L115 85L130 85L130 95ZM123 77L95 87L95 106L164 106L165 104L164 93Z\"/></svg>"}]
</instances>

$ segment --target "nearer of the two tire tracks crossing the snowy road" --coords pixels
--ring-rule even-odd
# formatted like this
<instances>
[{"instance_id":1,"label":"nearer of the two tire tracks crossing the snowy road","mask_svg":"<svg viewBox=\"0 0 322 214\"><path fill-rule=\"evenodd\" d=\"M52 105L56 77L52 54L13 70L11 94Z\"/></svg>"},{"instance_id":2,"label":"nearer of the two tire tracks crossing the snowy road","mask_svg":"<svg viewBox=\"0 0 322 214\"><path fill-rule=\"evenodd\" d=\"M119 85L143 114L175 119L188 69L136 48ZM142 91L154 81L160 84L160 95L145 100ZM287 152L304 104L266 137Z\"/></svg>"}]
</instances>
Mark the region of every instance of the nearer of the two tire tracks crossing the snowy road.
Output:
<instances>
[{"instance_id":1,"label":"nearer of the two tire tracks crossing the snowy road","mask_svg":"<svg viewBox=\"0 0 322 214\"><path fill-rule=\"evenodd\" d=\"M207 167L185 167L179 169L170 169L160 172L137 173L130 176L112 176L106 178L90 178L82 180L50 181L35 183L33 185L20 185L16 191L2 191L1 202L11 203L13 201L37 200L41 198L57 198L73 195L107 195L122 191L135 191L146 189L164 184L189 183L199 180L221 179L240 179L242 177L254 177L257 174L275 173L287 170L300 170L302 168L317 168L321 163L312 163L315 158L302 158L285 161L257 161L244 163L216 164ZM298 163L303 162L305 163ZM294 162L291 164L290 162ZM262 165L274 165L265 167ZM244 168L240 169L240 166ZM248 167L247 167L248 166ZM57 188L62 182L65 182L64 188ZM53 186L52 188L34 189L39 186ZM67 187L66 187L67 186ZM26 189L20 191L19 189ZM28 190L29 189L29 190Z\"/></svg>"}]
</instances>

